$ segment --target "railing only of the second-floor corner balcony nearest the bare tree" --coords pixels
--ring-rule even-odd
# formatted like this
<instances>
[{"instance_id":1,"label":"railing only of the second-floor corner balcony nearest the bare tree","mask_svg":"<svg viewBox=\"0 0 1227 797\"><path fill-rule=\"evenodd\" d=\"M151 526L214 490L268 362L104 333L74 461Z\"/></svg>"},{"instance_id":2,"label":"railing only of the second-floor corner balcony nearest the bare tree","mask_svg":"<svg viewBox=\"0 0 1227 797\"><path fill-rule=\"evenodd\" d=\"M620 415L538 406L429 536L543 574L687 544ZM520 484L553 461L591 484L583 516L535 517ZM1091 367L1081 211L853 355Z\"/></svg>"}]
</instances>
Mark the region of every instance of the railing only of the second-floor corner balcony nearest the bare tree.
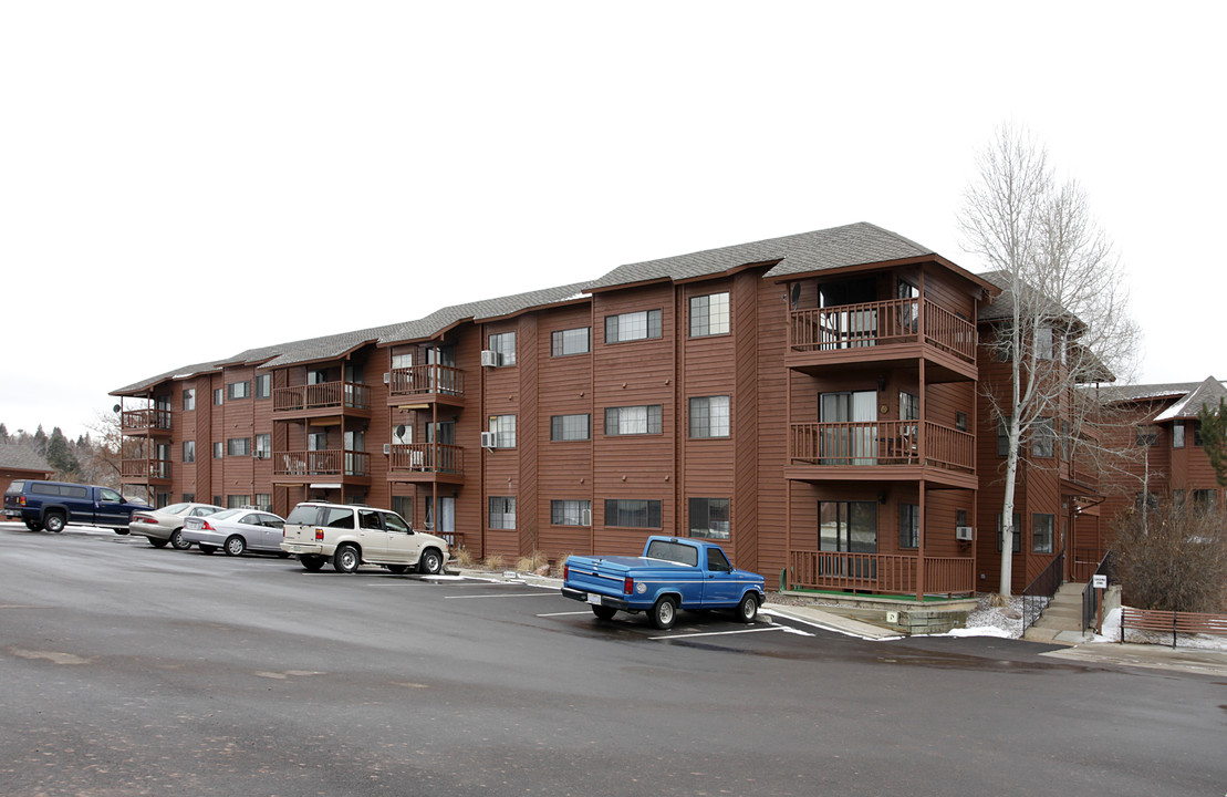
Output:
<instances>
[{"instance_id":1,"label":"railing only of the second-floor corner balcony nearest the bare tree","mask_svg":"<svg viewBox=\"0 0 1227 797\"><path fill-rule=\"evenodd\" d=\"M914 465L923 464L973 472L975 437L950 426L921 421L864 421L793 424L789 457L814 465Z\"/></svg>"}]
</instances>

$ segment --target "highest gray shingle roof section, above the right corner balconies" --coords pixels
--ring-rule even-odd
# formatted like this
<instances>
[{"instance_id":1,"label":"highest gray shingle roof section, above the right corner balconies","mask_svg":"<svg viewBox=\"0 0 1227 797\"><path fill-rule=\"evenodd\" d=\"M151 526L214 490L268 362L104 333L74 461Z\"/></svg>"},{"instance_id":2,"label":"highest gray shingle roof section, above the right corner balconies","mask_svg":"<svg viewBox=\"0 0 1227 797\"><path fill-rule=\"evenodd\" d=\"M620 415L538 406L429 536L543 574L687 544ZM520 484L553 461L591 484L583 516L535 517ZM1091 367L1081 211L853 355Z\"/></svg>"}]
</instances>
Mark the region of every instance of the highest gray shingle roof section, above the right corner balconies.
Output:
<instances>
[{"instance_id":1,"label":"highest gray shingle roof section, above the right corner balconies","mask_svg":"<svg viewBox=\"0 0 1227 797\"><path fill-rule=\"evenodd\" d=\"M663 279L679 281L723 274L755 263L773 264L766 276L777 278L929 254L935 254L929 247L861 221L843 227L620 265L591 285L594 289L602 289Z\"/></svg>"}]
</instances>

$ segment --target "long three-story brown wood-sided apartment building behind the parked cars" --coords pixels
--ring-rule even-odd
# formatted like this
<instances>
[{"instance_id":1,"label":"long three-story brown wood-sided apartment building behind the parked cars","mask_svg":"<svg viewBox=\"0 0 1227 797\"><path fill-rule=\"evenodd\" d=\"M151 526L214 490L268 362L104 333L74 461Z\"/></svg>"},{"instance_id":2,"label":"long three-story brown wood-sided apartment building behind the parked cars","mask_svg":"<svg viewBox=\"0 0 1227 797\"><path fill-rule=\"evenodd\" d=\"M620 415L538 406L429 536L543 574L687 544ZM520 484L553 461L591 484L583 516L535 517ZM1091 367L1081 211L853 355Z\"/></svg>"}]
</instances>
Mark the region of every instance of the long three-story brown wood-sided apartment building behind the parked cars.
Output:
<instances>
[{"instance_id":1,"label":"long three-story brown wood-sided apartment building behind the parked cars","mask_svg":"<svg viewBox=\"0 0 1227 797\"><path fill-rule=\"evenodd\" d=\"M623 265L115 391L139 443L123 481L389 506L477 558L690 534L769 583L993 589L977 340L999 294L870 224ZM1020 588L1087 527L1071 474L1025 483Z\"/></svg>"}]
</instances>

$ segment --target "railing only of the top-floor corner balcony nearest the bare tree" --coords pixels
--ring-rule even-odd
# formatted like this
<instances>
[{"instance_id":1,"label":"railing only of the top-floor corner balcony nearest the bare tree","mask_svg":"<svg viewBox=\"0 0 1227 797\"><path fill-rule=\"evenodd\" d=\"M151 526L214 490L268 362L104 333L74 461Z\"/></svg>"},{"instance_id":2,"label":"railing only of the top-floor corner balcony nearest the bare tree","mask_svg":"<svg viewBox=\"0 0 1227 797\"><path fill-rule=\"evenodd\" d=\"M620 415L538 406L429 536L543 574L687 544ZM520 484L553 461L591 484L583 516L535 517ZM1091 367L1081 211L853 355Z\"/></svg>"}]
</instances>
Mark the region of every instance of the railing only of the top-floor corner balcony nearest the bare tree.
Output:
<instances>
[{"instance_id":1,"label":"railing only of the top-floor corner balcony nearest the bare tree","mask_svg":"<svg viewBox=\"0 0 1227 797\"><path fill-rule=\"evenodd\" d=\"M833 351L914 343L920 338L921 308L925 343L974 362L975 327L948 309L919 298L793 311L789 345L793 351Z\"/></svg>"}]
</instances>

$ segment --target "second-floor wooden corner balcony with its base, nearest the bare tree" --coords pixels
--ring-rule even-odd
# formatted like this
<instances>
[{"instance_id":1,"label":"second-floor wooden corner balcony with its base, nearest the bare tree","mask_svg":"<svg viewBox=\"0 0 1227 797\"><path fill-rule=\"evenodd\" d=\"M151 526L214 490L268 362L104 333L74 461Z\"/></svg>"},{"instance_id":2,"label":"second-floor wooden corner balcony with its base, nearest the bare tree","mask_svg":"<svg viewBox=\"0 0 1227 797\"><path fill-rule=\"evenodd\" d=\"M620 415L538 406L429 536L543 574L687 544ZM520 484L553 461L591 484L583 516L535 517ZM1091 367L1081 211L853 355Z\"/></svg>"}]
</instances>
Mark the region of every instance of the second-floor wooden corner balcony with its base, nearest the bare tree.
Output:
<instances>
[{"instance_id":1,"label":"second-floor wooden corner balcony with its base, nearest the bare tree","mask_svg":"<svg viewBox=\"0 0 1227 797\"><path fill-rule=\"evenodd\" d=\"M974 489L975 437L930 421L793 424L785 475L807 481L924 476Z\"/></svg>"}]
</instances>

